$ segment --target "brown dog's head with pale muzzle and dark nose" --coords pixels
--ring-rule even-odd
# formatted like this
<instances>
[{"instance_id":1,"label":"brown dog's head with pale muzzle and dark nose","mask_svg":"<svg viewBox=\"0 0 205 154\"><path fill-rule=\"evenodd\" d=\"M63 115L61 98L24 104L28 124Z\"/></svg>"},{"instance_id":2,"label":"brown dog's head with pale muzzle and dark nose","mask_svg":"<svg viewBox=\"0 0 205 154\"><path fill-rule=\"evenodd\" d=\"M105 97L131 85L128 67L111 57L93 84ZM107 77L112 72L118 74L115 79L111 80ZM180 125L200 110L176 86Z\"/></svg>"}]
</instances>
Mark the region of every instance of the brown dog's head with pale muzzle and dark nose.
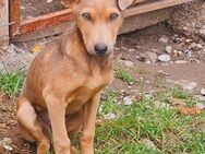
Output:
<instances>
[{"instance_id":1,"label":"brown dog's head with pale muzzle and dark nose","mask_svg":"<svg viewBox=\"0 0 205 154\"><path fill-rule=\"evenodd\" d=\"M121 12L134 0L61 0L73 9L85 47L93 56L112 52L122 23Z\"/></svg>"}]
</instances>

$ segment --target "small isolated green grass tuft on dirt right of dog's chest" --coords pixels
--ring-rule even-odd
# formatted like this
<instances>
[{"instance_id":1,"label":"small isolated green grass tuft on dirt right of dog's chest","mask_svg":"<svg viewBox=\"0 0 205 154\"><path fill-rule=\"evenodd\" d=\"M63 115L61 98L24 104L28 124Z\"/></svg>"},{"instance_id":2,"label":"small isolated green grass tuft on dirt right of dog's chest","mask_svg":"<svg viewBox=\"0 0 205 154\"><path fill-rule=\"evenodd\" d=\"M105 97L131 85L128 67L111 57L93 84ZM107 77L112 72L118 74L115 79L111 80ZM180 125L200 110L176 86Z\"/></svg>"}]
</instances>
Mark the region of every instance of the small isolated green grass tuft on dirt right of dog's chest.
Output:
<instances>
[{"instance_id":1,"label":"small isolated green grass tuft on dirt right of dog's chest","mask_svg":"<svg viewBox=\"0 0 205 154\"><path fill-rule=\"evenodd\" d=\"M118 79L121 79L122 81L125 81L128 83L135 82L135 79L133 78L131 72L129 72L129 70L126 70L125 68L118 66L116 67L114 71Z\"/></svg>"}]
</instances>

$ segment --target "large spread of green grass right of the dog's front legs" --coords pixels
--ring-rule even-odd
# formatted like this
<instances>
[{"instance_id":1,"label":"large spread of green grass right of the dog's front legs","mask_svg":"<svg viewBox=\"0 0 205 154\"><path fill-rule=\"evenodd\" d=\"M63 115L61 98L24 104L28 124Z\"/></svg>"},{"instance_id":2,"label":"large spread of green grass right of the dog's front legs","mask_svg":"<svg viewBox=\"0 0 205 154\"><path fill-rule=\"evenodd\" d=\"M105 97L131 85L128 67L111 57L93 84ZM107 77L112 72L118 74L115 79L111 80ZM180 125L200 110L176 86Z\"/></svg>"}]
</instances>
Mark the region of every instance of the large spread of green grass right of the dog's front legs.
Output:
<instances>
[{"instance_id":1,"label":"large spread of green grass right of the dog's front legs","mask_svg":"<svg viewBox=\"0 0 205 154\"><path fill-rule=\"evenodd\" d=\"M113 103L114 95L110 95L108 100L101 104L101 112L114 111L118 118L97 127L96 153L204 154L205 130L198 130L197 125L205 122L205 112L194 117L181 116L174 108L158 108L154 105L156 100L166 103L170 96L195 102L179 90L160 92L154 98L143 98L132 106L117 105ZM143 138L153 141L156 147L144 144Z\"/></svg>"}]
</instances>

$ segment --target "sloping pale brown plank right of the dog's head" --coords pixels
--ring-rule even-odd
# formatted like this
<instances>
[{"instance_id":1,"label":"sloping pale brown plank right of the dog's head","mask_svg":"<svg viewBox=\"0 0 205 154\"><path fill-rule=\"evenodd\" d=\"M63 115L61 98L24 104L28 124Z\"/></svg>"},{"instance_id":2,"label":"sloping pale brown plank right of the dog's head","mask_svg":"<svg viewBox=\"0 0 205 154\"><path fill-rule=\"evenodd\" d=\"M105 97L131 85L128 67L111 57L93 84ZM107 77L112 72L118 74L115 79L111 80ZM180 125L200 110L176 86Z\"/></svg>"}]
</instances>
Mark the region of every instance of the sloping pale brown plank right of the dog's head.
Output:
<instances>
[{"instance_id":1,"label":"sloping pale brown plank right of the dog's head","mask_svg":"<svg viewBox=\"0 0 205 154\"><path fill-rule=\"evenodd\" d=\"M173 7L173 5L178 5L178 4L182 4L182 3L191 2L191 1L193 0L159 0L156 2L149 2L149 3L136 5L136 7L125 10L124 16L128 17L128 16L142 14L142 13L146 13L146 12L150 12L150 11L155 11L155 10L159 10L164 8L169 8L169 7Z\"/></svg>"}]
</instances>

